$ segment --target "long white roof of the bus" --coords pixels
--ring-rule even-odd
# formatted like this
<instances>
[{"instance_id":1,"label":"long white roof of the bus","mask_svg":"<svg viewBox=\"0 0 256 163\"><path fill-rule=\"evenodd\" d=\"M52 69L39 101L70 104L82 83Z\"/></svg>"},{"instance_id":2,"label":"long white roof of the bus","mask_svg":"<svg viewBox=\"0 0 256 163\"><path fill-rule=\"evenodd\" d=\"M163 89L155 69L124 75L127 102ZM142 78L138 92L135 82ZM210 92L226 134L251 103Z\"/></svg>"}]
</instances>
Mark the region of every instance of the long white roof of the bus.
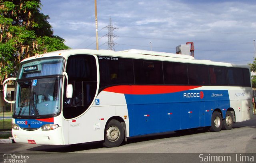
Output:
<instances>
[{"instance_id":1,"label":"long white roof of the bus","mask_svg":"<svg viewBox=\"0 0 256 163\"><path fill-rule=\"evenodd\" d=\"M125 58L136 58L136 59L148 59L148 60L162 60L162 61L174 61L174 62L183 62L183 63L193 63L193 64L207 64L207 65L216 65L216 66L228 66L228 67L242 67L249 68L247 64L230 64L224 62L212 62L210 60L195 60L194 57L182 54L173 54L166 52L154 52L147 50L123 50L115 52L112 50L89 50L89 49L70 49L70 50L59 50L55 52L49 52L45 54L40 54L37 56L32 56L26 58L21 62L26 62L29 60L34 60L37 58L45 57L56 57L62 56L68 58L70 55L74 54L91 54L91 55L102 55L102 56L113 56L113 57L125 57Z\"/></svg>"}]
</instances>

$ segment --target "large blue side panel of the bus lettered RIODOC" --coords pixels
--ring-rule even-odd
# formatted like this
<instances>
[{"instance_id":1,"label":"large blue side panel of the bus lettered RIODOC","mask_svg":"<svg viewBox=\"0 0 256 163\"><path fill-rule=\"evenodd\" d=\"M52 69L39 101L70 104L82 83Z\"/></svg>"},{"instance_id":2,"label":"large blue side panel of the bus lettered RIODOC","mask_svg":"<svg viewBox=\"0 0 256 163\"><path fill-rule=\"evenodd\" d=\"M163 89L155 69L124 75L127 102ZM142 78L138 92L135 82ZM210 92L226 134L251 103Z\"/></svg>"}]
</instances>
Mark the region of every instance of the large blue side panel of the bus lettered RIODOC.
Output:
<instances>
[{"instance_id":1,"label":"large blue side panel of the bus lettered RIODOC","mask_svg":"<svg viewBox=\"0 0 256 163\"><path fill-rule=\"evenodd\" d=\"M130 136L211 125L212 110L230 107L227 90L188 90L175 93L125 94ZM226 111L223 111L225 115Z\"/></svg>"}]
</instances>

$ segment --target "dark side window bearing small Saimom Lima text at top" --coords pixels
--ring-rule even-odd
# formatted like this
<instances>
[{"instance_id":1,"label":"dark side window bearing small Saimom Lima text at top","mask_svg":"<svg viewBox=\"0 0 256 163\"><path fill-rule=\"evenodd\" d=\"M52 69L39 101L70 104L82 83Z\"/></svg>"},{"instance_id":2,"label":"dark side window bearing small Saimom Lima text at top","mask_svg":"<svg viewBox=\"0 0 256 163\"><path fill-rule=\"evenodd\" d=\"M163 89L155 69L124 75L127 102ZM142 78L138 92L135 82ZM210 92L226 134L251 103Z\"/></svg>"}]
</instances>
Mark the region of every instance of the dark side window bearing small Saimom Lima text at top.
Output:
<instances>
[{"instance_id":1,"label":"dark side window bearing small Saimom Lima text at top","mask_svg":"<svg viewBox=\"0 0 256 163\"><path fill-rule=\"evenodd\" d=\"M98 56L100 87L134 83L132 59Z\"/></svg>"}]
</instances>

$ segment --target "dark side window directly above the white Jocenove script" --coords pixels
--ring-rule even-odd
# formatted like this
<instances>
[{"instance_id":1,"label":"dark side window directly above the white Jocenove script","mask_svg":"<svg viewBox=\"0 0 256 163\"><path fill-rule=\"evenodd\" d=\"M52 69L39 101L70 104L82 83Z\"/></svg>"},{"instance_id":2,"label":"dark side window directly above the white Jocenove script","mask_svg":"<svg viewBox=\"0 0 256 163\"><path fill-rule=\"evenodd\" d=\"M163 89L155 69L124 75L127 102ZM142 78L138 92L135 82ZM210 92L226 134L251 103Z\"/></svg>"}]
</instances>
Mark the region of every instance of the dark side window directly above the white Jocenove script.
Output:
<instances>
[{"instance_id":1,"label":"dark side window directly above the white Jocenove script","mask_svg":"<svg viewBox=\"0 0 256 163\"><path fill-rule=\"evenodd\" d=\"M227 85L226 68L220 66L209 66L211 85Z\"/></svg>"}]
</instances>

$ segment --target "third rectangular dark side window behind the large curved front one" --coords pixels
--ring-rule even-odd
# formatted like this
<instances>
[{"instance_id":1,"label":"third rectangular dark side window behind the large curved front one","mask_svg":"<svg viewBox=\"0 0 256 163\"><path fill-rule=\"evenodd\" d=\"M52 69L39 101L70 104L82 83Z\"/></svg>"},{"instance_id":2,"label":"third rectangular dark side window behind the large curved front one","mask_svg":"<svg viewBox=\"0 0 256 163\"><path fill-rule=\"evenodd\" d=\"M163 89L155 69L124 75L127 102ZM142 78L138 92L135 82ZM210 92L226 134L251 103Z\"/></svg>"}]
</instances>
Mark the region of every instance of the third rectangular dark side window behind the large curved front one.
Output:
<instances>
[{"instance_id":1,"label":"third rectangular dark side window behind the large curved front one","mask_svg":"<svg viewBox=\"0 0 256 163\"><path fill-rule=\"evenodd\" d=\"M188 84L187 65L176 62L163 62L165 84Z\"/></svg>"}]
</instances>

